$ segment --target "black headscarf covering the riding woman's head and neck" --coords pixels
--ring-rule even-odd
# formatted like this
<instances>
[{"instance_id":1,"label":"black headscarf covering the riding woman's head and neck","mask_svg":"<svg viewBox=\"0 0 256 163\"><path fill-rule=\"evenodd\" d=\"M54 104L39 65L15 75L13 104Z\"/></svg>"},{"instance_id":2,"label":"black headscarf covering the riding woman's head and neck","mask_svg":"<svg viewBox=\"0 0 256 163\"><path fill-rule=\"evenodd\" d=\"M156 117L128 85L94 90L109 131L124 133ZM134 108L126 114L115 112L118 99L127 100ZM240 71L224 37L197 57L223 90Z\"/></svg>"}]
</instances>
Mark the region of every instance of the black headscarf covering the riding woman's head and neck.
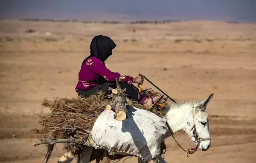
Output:
<instances>
[{"instance_id":1,"label":"black headscarf covering the riding woman's head and neck","mask_svg":"<svg viewBox=\"0 0 256 163\"><path fill-rule=\"evenodd\" d=\"M90 56L84 59L82 65L89 57L92 56L97 57L104 63L105 60L112 55L111 50L113 50L115 47L116 44L111 38L102 35L95 36L90 44Z\"/></svg>"}]
</instances>

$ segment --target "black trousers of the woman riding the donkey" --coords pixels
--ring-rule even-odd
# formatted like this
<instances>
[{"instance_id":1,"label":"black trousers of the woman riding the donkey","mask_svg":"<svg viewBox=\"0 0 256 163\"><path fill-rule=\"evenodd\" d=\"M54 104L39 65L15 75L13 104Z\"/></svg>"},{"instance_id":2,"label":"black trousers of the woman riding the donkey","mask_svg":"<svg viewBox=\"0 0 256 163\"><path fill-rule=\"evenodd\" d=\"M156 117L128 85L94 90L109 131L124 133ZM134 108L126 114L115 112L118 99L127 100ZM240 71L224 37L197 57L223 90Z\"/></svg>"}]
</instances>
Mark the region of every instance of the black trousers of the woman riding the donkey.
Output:
<instances>
[{"instance_id":1,"label":"black trousers of the woman riding the donkey","mask_svg":"<svg viewBox=\"0 0 256 163\"><path fill-rule=\"evenodd\" d=\"M137 101L139 103L144 99L145 96L143 96L143 95L140 95L140 99L138 98L139 89L137 87L135 87L134 84L128 84L126 82L119 82L119 84L120 84L121 89L126 88L125 93L130 98L133 98L135 101ZM101 90L101 91L105 92L105 96L107 96L107 95L111 94L111 90L108 90L108 87L116 88L116 83L106 82L104 84L97 84L96 87L93 87L90 90L79 89L77 91L77 93L79 96L88 97L90 95L97 93L99 90Z\"/></svg>"}]
</instances>

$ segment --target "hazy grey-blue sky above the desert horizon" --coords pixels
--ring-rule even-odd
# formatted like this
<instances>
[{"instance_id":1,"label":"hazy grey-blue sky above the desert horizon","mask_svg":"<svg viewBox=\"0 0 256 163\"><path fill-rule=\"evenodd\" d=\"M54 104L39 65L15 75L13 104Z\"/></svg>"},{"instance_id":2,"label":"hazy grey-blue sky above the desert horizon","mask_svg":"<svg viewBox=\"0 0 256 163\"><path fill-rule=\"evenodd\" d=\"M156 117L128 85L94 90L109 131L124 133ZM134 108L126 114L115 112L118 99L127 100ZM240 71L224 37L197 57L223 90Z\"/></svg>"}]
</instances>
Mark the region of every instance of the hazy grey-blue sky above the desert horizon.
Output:
<instances>
[{"instance_id":1,"label":"hazy grey-blue sky above the desert horizon","mask_svg":"<svg viewBox=\"0 0 256 163\"><path fill-rule=\"evenodd\" d=\"M256 21L256 0L0 0L0 18Z\"/></svg>"}]
</instances>

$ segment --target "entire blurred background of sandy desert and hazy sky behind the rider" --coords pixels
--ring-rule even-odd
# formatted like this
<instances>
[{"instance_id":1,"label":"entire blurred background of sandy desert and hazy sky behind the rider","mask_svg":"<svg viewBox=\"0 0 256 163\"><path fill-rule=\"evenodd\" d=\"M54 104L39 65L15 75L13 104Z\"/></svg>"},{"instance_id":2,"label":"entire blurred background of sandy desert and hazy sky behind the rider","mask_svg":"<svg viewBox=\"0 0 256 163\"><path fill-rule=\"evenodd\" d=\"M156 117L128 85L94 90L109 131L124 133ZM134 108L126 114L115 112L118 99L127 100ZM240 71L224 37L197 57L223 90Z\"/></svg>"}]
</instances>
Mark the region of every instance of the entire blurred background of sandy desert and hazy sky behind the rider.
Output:
<instances>
[{"instance_id":1,"label":"entire blurred background of sandy desert and hazy sky behind the rider","mask_svg":"<svg viewBox=\"0 0 256 163\"><path fill-rule=\"evenodd\" d=\"M44 162L45 147L28 141L49 112L41 102L77 96L81 63L102 34L117 45L110 70L142 73L176 101L215 93L211 148L187 158L168 138L167 162L255 163L255 8L255 0L0 1L0 162ZM184 133L176 139L193 146ZM62 154L58 145L49 163Z\"/></svg>"}]
</instances>

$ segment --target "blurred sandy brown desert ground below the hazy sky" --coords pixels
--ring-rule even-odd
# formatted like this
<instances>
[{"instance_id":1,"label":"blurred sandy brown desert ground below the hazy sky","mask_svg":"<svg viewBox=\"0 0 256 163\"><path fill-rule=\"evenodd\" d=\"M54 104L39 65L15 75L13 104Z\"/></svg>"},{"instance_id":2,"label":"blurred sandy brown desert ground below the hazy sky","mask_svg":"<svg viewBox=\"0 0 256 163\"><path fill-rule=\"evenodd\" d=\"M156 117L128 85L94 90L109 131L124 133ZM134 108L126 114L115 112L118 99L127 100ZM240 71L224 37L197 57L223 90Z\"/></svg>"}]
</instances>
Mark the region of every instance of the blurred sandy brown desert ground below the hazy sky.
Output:
<instances>
[{"instance_id":1,"label":"blurred sandy brown desert ground below the hazy sky","mask_svg":"<svg viewBox=\"0 0 256 163\"><path fill-rule=\"evenodd\" d=\"M19 20L0 21L0 162L44 163L45 147L34 147L28 132L38 126L38 115L49 112L41 106L44 98L77 96L81 62L99 34L117 45L106 61L110 70L142 73L176 101L215 93L207 107L211 148L186 157L170 137L168 163L256 163L256 23ZM145 81L143 87L153 86ZM185 149L194 146L182 132L175 137ZM58 144L49 163L62 154Z\"/></svg>"}]
</instances>

